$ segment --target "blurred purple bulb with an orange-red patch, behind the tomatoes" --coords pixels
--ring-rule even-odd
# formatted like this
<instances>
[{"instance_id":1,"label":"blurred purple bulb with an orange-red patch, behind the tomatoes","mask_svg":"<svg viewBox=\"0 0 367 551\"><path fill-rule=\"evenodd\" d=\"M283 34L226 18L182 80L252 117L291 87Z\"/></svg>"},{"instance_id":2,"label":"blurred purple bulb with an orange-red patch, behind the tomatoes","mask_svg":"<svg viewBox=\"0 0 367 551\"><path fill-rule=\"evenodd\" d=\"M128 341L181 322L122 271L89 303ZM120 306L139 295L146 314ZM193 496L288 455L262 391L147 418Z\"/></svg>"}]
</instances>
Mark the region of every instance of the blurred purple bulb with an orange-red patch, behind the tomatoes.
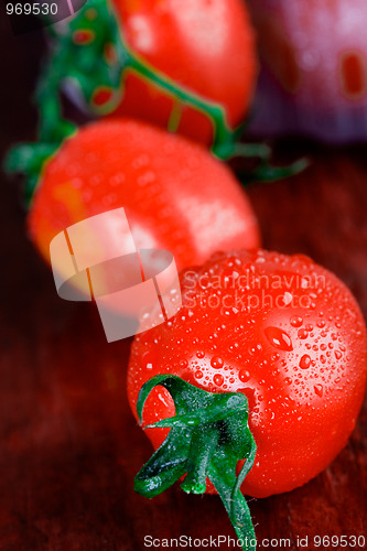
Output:
<instances>
[{"instance_id":1,"label":"blurred purple bulb with an orange-red patch, behind the tomatoes","mask_svg":"<svg viewBox=\"0 0 367 551\"><path fill-rule=\"evenodd\" d=\"M249 6L263 66L257 133L365 140L366 2L249 0Z\"/></svg>"}]
</instances>

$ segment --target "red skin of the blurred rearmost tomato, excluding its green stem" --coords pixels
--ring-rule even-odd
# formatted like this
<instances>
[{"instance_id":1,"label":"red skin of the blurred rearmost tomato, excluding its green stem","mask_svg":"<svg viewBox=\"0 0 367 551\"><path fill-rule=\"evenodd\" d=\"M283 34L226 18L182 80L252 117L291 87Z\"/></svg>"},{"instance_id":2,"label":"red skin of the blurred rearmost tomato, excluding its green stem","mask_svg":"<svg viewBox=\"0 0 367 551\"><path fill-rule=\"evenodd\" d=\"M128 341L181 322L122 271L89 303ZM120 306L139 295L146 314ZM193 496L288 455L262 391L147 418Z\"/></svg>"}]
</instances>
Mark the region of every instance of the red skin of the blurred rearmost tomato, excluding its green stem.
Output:
<instances>
[{"instance_id":1,"label":"red skin of the blurred rearmost tomato, excluding its green stem","mask_svg":"<svg viewBox=\"0 0 367 551\"><path fill-rule=\"evenodd\" d=\"M241 0L115 0L123 37L152 67L207 100L223 106L227 122L245 118L255 90L255 33ZM168 127L172 99L141 75L125 75L123 98L112 116ZM177 131L209 144L206 114L184 107Z\"/></svg>"}]
</instances>

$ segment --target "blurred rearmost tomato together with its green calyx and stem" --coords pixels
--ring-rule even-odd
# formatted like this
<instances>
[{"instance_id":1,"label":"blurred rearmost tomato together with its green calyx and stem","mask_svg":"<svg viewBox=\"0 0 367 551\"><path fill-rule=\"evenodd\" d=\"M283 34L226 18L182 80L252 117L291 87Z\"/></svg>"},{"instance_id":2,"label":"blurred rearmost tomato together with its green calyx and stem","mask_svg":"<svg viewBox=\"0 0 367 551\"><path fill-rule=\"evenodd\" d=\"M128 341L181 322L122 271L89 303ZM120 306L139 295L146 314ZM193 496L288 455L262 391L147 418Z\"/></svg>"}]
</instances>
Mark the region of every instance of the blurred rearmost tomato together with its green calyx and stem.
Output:
<instances>
[{"instance_id":1,"label":"blurred rearmost tomato together with its green calyx and stem","mask_svg":"<svg viewBox=\"0 0 367 551\"><path fill-rule=\"evenodd\" d=\"M57 126L60 90L89 116L138 118L212 147L234 141L250 107L258 66L241 0L99 0L51 33L43 132Z\"/></svg>"}]
</instances>

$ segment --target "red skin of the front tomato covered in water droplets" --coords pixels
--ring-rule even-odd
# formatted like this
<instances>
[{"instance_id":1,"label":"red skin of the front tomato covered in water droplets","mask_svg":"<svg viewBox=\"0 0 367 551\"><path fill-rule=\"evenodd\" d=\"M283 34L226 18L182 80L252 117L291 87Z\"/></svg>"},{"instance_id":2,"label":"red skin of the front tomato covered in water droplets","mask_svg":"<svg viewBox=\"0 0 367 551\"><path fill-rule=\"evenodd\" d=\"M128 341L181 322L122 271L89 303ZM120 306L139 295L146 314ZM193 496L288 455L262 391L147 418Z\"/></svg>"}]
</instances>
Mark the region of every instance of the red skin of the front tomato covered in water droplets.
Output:
<instances>
[{"instance_id":1,"label":"red skin of the front tomato covered in water droplets","mask_svg":"<svg viewBox=\"0 0 367 551\"><path fill-rule=\"evenodd\" d=\"M247 290L225 287L234 273L250 274ZM209 391L244 392L258 447L245 494L266 497L305 484L346 444L365 392L366 326L350 292L306 257L265 251L216 255L184 270L181 285L182 311L134 339L132 411L141 386L158 374ZM239 295L245 304L234 311ZM170 395L154 389L144 423L173 414ZM158 447L166 430L147 434Z\"/></svg>"}]
</instances>

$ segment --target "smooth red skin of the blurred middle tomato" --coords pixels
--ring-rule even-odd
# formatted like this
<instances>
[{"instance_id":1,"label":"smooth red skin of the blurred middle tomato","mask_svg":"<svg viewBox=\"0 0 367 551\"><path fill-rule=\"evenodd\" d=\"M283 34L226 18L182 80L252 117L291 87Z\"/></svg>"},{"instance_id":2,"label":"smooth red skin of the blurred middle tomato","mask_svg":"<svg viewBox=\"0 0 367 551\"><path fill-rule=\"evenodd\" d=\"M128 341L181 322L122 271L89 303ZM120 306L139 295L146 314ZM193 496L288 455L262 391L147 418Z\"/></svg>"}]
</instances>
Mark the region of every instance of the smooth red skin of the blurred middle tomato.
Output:
<instances>
[{"instance_id":1,"label":"smooth red skin of the blurred middle tomato","mask_svg":"<svg viewBox=\"0 0 367 551\"><path fill-rule=\"evenodd\" d=\"M118 207L137 248L169 250L179 269L218 246L259 244L247 196L223 163L201 145L128 120L88 125L64 142L42 171L30 236L50 261L55 235Z\"/></svg>"}]
</instances>

